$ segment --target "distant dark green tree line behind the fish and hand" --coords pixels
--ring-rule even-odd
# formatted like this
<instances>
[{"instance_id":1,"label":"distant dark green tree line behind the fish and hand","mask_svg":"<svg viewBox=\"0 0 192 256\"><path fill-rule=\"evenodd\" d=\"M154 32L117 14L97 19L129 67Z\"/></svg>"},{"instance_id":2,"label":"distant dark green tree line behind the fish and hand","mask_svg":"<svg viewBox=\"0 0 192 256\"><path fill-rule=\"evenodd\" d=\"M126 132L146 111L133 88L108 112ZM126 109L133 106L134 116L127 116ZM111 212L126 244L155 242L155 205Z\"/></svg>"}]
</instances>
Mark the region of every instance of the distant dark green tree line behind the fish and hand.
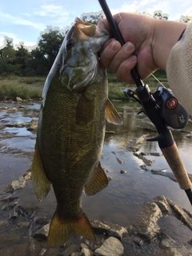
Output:
<instances>
[{"instance_id":1,"label":"distant dark green tree line behind the fish and hand","mask_svg":"<svg viewBox=\"0 0 192 256\"><path fill-rule=\"evenodd\" d=\"M153 17L168 19L168 15L162 14L161 10L154 12ZM182 17L182 22L189 22L189 17ZM82 14L82 19L94 24L97 24L102 18L102 12ZM67 29L48 27L46 32L41 34L34 49L27 48L22 42L19 46L14 47L13 39L5 37L4 47L0 49L0 75L46 76L54 63L66 33Z\"/></svg>"}]
</instances>

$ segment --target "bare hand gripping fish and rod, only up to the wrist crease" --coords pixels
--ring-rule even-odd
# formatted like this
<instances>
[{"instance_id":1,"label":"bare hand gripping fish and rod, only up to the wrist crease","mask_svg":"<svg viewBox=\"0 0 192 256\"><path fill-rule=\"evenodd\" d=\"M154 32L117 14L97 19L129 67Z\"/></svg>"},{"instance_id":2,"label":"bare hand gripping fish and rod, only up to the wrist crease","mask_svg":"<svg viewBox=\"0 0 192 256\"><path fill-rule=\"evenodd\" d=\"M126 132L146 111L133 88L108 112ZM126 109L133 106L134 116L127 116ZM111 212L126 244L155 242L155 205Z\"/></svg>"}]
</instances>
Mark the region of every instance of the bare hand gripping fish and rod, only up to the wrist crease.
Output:
<instances>
[{"instance_id":1,"label":"bare hand gripping fish and rod, only up to the wrist crease","mask_svg":"<svg viewBox=\"0 0 192 256\"><path fill-rule=\"evenodd\" d=\"M122 33L126 44L111 38L100 51L100 62L124 82L134 83L130 70L137 64L138 74L147 78L158 66L153 56L154 20L138 14L115 14L115 22ZM110 30L106 19L98 22L98 26Z\"/></svg>"}]
</instances>

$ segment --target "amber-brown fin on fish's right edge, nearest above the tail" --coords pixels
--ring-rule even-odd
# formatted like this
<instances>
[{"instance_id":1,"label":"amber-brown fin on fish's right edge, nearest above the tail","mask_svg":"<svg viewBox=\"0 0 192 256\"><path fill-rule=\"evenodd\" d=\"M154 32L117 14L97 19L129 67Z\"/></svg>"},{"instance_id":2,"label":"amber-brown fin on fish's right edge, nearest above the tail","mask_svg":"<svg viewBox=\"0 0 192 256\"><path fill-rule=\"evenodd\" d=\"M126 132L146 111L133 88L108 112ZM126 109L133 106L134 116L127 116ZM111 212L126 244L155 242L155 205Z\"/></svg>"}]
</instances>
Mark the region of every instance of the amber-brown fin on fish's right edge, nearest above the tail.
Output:
<instances>
[{"instance_id":1,"label":"amber-brown fin on fish's right edge, nearest above the tail","mask_svg":"<svg viewBox=\"0 0 192 256\"><path fill-rule=\"evenodd\" d=\"M108 185L108 178L100 162L98 162L98 167L94 173L94 176L91 178L90 182L85 186L84 191L86 195L94 195L99 191L103 190Z\"/></svg>"}]
</instances>

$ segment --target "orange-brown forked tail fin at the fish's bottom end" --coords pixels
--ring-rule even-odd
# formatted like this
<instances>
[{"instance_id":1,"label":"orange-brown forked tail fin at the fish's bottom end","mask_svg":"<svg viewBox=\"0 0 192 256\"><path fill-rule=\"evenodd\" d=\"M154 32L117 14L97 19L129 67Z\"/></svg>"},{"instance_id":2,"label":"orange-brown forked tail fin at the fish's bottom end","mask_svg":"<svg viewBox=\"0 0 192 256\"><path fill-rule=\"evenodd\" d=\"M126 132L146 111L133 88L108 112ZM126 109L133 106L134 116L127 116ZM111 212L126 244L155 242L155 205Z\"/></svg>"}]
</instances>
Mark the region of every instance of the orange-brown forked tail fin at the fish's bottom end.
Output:
<instances>
[{"instance_id":1,"label":"orange-brown forked tail fin at the fish's bottom end","mask_svg":"<svg viewBox=\"0 0 192 256\"><path fill-rule=\"evenodd\" d=\"M58 217L58 210L56 210L50 222L50 232L47 239L48 246L54 247L64 244L72 234L79 234L95 240L94 231L86 214L82 213L78 218L61 219Z\"/></svg>"}]
</instances>

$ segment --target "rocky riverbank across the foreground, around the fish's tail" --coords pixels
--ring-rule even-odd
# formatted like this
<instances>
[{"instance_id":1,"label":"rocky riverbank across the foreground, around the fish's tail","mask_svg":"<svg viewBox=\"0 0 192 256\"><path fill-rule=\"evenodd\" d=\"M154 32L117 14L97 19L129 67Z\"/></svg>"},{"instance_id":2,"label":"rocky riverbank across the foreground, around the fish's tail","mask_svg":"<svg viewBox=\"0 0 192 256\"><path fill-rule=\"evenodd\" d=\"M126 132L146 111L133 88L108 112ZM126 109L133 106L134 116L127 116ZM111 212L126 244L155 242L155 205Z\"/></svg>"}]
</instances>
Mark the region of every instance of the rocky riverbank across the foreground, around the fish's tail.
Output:
<instances>
[{"instance_id":1,"label":"rocky riverbank across the foreground, around the fish's tail","mask_svg":"<svg viewBox=\"0 0 192 256\"><path fill-rule=\"evenodd\" d=\"M180 208L164 196L154 198L154 202L143 203L138 221L134 225L123 227L93 220L90 223L96 234L96 241L74 235L65 245L50 249L46 246L50 219L37 216L35 210L25 209L19 200L18 191L26 186L26 182L30 182L30 170L11 182L0 193L1 212L6 212L6 220L0 222L1 229L9 226L13 234L16 230L18 234L20 233L18 238L21 238L22 234L26 236L25 239L22 237L24 242L22 247L25 251L19 254L21 256L53 255L53 253L59 256L192 255L192 232L188 241L178 242L158 225L162 217L170 216L180 222L178 230L182 225L192 230L192 212ZM18 255L14 254L13 248L0 251L3 255Z\"/></svg>"}]
</instances>

